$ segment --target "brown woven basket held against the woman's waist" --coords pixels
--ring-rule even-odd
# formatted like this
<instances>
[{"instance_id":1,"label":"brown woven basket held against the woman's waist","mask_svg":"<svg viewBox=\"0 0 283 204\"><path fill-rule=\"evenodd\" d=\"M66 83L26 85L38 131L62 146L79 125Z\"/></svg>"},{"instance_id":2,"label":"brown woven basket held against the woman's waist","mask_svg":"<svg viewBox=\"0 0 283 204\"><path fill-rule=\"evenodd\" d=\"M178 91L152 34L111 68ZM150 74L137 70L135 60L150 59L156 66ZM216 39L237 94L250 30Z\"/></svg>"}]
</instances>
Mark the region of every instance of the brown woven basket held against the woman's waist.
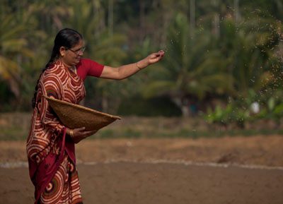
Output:
<instances>
[{"instance_id":1,"label":"brown woven basket held against the woman's waist","mask_svg":"<svg viewBox=\"0 0 283 204\"><path fill-rule=\"evenodd\" d=\"M100 128L108 126L115 120L121 119L119 116L98 112L79 104L72 104L47 96L45 96L45 98L48 100L60 121L62 121L62 124L71 129L85 127L86 131L98 131Z\"/></svg>"}]
</instances>

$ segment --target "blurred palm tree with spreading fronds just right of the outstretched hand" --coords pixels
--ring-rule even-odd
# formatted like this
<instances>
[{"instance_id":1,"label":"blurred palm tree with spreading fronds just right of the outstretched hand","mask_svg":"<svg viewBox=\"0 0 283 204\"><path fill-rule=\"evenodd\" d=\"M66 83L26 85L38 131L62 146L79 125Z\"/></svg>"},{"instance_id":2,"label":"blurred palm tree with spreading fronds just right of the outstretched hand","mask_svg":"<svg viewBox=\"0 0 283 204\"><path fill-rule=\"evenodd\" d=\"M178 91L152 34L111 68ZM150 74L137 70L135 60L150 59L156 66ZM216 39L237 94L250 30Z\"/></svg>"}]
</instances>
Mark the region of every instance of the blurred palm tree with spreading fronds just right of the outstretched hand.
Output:
<instances>
[{"instance_id":1,"label":"blurred palm tree with spreading fronds just right of the outstretched hand","mask_svg":"<svg viewBox=\"0 0 283 204\"><path fill-rule=\"evenodd\" d=\"M209 33L196 30L194 37L190 36L190 23L178 14L168 31L166 62L152 73L158 78L144 86L144 96L170 96L183 116L188 116L192 100L233 91L233 79L224 70L226 62L217 60L219 52L209 51Z\"/></svg>"}]
</instances>

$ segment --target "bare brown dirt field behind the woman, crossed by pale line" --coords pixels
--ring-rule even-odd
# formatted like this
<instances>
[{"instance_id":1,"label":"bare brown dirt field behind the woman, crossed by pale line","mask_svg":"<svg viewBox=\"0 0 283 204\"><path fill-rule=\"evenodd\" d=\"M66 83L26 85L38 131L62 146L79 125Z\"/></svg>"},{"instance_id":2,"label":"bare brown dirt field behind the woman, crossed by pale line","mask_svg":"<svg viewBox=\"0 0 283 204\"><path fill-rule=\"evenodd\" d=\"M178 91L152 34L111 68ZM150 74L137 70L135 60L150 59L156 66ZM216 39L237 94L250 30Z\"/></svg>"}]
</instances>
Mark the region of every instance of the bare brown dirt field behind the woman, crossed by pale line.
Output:
<instances>
[{"instance_id":1,"label":"bare brown dirt field behind the woman, crossed by pale line","mask_svg":"<svg viewBox=\"0 0 283 204\"><path fill-rule=\"evenodd\" d=\"M84 203L283 203L283 137L85 140ZM25 142L0 141L0 203L33 203Z\"/></svg>"}]
</instances>

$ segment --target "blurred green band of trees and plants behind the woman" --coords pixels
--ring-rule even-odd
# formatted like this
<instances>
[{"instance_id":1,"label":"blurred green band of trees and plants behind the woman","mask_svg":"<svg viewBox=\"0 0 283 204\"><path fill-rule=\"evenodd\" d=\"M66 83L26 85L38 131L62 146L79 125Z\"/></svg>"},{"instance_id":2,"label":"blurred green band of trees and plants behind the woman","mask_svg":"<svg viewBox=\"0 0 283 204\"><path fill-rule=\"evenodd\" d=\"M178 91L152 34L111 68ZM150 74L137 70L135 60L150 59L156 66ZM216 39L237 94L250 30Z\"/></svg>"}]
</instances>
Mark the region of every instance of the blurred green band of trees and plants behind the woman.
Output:
<instances>
[{"instance_id":1,"label":"blurred green band of trees and plants behind the woman","mask_svg":"<svg viewBox=\"0 0 283 204\"><path fill-rule=\"evenodd\" d=\"M272 121L272 128L282 124L282 0L0 2L2 118L31 111L55 35L74 28L86 41L85 57L100 64L166 52L161 63L127 80L88 78L87 107L204 119L224 128L259 120Z\"/></svg>"}]
</instances>

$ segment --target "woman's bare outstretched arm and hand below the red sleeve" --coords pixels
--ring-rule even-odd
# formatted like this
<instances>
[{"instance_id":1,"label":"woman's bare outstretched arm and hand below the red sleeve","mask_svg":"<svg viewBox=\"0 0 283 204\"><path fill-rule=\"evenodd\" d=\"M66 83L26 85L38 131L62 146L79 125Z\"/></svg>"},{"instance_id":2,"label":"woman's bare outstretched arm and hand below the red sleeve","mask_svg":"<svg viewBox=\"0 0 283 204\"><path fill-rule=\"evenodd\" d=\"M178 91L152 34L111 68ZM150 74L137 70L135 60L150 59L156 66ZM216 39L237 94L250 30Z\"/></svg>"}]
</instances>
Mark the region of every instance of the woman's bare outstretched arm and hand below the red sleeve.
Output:
<instances>
[{"instance_id":1,"label":"woman's bare outstretched arm and hand below the red sleeve","mask_svg":"<svg viewBox=\"0 0 283 204\"><path fill-rule=\"evenodd\" d=\"M160 61L164 56L163 50L155 52L146 56L146 58L137 61L137 63L122 65L117 68L111 66L104 66L103 72L101 73L100 78L108 78L115 80L122 80L132 76L134 73L137 73L146 66L154 64Z\"/></svg>"}]
</instances>

